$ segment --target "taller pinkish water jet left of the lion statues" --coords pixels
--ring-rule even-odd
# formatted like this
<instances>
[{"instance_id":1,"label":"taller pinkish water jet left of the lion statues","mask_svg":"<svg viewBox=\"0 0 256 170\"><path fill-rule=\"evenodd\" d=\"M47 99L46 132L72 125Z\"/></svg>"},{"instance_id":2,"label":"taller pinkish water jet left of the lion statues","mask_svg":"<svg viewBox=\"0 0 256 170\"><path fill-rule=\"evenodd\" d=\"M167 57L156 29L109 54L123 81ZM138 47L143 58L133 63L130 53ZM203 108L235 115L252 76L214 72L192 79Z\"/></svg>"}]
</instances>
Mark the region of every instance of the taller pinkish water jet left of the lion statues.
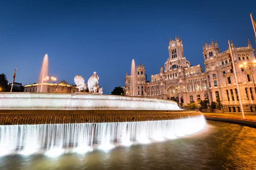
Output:
<instances>
[{"instance_id":1,"label":"taller pinkish water jet left of the lion statues","mask_svg":"<svg viewBox=\"0 0 256 170\"><path fill-rule=\"evenodd\" d=\"M46 85L43 85L44 79L48 76L48 55L45 54L43 64L41 67L40 75L39 75L39 86L38 91L47 92Z\"/></svg>"}]
</instances>

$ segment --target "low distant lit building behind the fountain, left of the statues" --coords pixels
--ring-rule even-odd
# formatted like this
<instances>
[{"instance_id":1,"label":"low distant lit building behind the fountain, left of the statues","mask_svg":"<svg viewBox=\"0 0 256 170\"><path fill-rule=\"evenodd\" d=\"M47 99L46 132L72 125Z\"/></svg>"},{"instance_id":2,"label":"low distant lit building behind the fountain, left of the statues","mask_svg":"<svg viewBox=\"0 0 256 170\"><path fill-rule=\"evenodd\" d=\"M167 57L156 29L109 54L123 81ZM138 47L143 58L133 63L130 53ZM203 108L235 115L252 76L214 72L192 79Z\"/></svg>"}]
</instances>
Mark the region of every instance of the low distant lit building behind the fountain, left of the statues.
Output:
<instances>
[{"instance_id":1,"label":"low distant lit building behind the fountain, left of the statues","mask_svg":"<svg viewBox=\"0 0 256 170\"><path fill-rule=\"evenodd\" d=\"M76 85L69 85L64 80L59 83L44 82L43 85L47 85L47 92L49 92L49 93L76 93L76 92L78 92L78 88ZM34 83L32 85L25 85L24 92L37 92L37 88L38 88L37 83Z\"/></svg>"}]
</instances>

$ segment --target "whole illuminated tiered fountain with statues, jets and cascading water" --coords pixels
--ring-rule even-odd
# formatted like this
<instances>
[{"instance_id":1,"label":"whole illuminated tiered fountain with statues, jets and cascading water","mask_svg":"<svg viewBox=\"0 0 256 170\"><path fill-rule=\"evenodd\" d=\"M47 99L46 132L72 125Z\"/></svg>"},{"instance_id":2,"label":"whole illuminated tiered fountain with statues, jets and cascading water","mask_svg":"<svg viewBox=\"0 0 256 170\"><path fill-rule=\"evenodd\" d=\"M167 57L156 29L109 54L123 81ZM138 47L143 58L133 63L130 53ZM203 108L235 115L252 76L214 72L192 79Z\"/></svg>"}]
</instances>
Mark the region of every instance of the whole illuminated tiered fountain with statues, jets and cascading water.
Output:
<instances>
[{"instance_id":1,"label":"whole illuminated tiered fountain with statues, jets and cascading water","mask_svg":"<svg viewBox=\"0 0 256 170\"><path fill-rule=\"evenodd\" d=\"M44 93L48 72L44 57L41 93L0 93L0 155L111 149L116 144L146 144L175 139L204 128L204 116L183 111L176 102L133 96L102 95L96 72L88 79L77 75L79 93ZM132 60L133 95L136 72ZM85 92L87 91L87 92Z\"/></svg>"}]
</instances>

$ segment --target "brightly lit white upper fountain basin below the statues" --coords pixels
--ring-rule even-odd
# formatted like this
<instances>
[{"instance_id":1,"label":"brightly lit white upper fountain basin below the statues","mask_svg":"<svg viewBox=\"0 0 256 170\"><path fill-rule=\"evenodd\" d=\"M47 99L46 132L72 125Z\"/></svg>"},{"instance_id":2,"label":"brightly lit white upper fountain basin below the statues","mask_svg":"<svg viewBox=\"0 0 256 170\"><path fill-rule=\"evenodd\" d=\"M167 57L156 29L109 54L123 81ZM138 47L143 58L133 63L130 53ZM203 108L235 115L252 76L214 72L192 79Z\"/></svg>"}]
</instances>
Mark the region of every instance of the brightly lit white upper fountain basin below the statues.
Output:
<instances>
[{"instance_id":1,"label":"brightly lit white upper fountain basin below the statues","mask_svg":"<svg viewBox=\"0 0 256 170\"><path fill-rule=\"evenodd\" d=\"M180 110L176 102L83 93L0 93L0 110Z\"/></svg>"}]
</instances>

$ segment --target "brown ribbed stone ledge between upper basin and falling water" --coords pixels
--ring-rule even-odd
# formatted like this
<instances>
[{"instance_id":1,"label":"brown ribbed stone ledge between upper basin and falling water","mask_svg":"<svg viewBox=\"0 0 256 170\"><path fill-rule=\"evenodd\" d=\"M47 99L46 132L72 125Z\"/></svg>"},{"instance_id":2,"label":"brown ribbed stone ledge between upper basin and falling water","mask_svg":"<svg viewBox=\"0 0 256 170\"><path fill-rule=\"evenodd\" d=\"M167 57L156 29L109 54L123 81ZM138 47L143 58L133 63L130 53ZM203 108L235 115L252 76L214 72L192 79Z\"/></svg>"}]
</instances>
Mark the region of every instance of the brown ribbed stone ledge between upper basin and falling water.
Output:
<instances>
[{"instance_id":1,"label":"brown ribbed stone ledge between upper basin and falling water","mask_svg":"<svg viewBox=\"0 0 256 170\"><path fill-rule=\"evenodd\" d=\"M0 125L142 122L188 119L198 116L201 116L201 113L195 111L2 110L0 111Z\"/></svg>"}]
</instances>

